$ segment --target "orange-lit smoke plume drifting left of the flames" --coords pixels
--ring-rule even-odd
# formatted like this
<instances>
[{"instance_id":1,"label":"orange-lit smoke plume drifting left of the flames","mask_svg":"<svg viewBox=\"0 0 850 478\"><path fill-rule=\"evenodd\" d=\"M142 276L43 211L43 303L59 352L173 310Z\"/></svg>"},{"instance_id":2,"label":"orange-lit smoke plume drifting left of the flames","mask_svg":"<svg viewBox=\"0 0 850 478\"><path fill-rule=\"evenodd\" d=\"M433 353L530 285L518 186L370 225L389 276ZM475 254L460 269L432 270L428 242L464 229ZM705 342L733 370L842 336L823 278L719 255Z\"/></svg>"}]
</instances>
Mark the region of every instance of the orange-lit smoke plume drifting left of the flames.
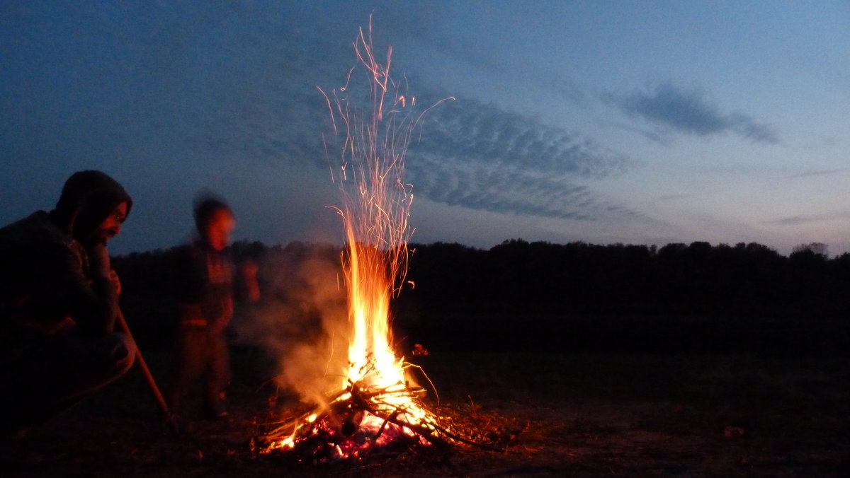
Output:
<instances>
[{"instance_id":1,"label":"orange-lit smoke plume drifting left of the flames","mask_svg":"<svg viewBox=\"0 0 850 478\"><path fill-rule=\"evenodd\" d=\"M292 243L261 260L263 297L235 321L237 341L275 359L275 381L305 402L337 389L348 365L349 327L340 250Z\"/></svg>"}]
</instances>

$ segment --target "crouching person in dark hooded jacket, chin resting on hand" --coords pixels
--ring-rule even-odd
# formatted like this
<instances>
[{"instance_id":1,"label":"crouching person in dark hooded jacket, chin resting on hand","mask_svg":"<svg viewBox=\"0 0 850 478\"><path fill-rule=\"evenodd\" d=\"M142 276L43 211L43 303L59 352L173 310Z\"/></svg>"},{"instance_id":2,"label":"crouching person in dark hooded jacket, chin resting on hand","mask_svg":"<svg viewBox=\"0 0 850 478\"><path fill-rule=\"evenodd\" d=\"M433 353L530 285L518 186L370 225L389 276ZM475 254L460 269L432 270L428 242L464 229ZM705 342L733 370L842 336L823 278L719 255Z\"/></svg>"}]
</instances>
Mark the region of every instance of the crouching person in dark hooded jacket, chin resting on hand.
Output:
<instances>
[{"instance_id":1,"label":"crouching person in dark hooded jacket, chin resting on hand","mask_svg":"<svg viewBox=\"0 0 850 478\"><path fill-rule=\"evenodd\" d=\"M120 283L106 243L133 200L99 171L76 172L52 211L0 228L0 437L22 436L133 365L116 332Z\"/></svg>"}]
</instances>

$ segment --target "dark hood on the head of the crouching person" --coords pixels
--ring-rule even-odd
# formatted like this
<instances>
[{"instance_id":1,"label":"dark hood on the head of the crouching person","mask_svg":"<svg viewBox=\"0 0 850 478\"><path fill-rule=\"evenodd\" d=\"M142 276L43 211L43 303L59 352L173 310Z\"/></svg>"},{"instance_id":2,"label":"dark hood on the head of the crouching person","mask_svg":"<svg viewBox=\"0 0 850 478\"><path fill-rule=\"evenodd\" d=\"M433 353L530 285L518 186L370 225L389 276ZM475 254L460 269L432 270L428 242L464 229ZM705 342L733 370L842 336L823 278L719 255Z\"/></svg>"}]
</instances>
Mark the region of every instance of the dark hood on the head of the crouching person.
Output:
<instances>
[{"instance_id":1,"label":"dark hood on the head of the crouching person","mask_svg":"<svg viewBox=\"0 0 850 478\"><path fill-rule=\"evenodd\" d=\"M87 242L101 222L127 202L127 216L133 200L121 184L104 172L75 172L65 181L51 217L60 228L81 243Z\"/></svg>"}]
</instances>

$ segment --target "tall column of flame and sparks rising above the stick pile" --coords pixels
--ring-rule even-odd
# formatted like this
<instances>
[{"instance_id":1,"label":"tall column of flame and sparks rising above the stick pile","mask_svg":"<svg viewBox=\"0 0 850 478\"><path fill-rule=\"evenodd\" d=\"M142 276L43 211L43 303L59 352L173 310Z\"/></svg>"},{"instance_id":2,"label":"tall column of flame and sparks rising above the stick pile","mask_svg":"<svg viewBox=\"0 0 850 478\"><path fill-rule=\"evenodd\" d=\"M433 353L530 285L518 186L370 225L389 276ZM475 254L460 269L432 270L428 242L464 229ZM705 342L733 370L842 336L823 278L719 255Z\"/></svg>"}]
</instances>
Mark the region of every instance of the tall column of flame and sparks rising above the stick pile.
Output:
<instances>
[{"instance_id":1,"label":"tall column of flame and sparks rising above the stick pile","mask_svg":"<svg viewBox=\"0 0 850 478\"><path fill-rule=\"evenodd\" d=\"M337 113L347 135L341 151L341 174L348 166L354 188L342 176L343 226L348 245L345 261L348 318L353 337L349 367L343 380L387 387L404 384L402 359L392 350L389 301L398 292L407 267L407 219L413 200L404 181L405 151L412 124L399 110L384 111L385 98L395 89L389 76L392 48L384 64L375 59L369 30L354 42L354 53L370 78L371 111L360 117L351 104L337 99ZM392 102L405 107L404 95ZM332 111L331 111L332 113ZM352 189L354 189L352 191Z\"/></svg>"}]
</instances>

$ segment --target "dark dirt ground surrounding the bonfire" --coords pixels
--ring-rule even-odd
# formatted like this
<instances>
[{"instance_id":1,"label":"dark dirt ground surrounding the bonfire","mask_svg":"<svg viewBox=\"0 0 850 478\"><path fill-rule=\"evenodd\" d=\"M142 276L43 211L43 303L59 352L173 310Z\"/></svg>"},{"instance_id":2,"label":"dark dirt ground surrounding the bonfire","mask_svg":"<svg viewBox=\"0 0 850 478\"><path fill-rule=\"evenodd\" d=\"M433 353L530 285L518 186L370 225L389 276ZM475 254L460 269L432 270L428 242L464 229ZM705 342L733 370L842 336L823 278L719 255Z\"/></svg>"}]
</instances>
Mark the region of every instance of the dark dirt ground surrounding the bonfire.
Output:
<instances>
[{"instance_id":1,"label":"dark dirt ground surrounding the bonfire","mask_svg":"<svg viewBox=\"0 0 850 478\"><path fill-rule=\"evenodd\" d=\"M167 354L145 357L167 374ZM251 370L255 359L236 354L231 421L186 413L173 436L132 370L4 442L0 475L850 475L850 357L433 352L417 362L440 403L521 430L507 450L458 446L331 465L252 452L275 396Z\"/></svg>"}]
</instances>

